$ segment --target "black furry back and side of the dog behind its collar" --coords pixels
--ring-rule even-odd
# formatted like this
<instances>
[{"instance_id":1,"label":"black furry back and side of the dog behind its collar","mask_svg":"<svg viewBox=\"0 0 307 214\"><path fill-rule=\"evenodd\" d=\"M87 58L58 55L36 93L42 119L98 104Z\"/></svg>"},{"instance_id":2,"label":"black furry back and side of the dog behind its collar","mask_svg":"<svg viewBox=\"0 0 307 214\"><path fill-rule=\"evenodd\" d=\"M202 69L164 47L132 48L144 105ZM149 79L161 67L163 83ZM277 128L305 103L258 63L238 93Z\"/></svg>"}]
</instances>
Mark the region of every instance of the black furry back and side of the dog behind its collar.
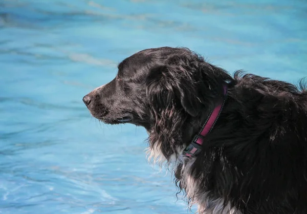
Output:
<instances>
[{"instance_id":1,"label":"black furry back and side of the dog behind its collar","mask_svg":"<svg viewBox=\"0 0 307 214\"><path fill-rule=\"evenodd\" d=\"M307 213L307 91L303 81L296 87L255 75L241 76L235 74L228 103L207 139L217 147L220 143L219 158L229 161L217 164L226 168L216 174L215 188L243 213ZM225 177L217 178L221 175Z\"/></svg>"}]
</instances>

